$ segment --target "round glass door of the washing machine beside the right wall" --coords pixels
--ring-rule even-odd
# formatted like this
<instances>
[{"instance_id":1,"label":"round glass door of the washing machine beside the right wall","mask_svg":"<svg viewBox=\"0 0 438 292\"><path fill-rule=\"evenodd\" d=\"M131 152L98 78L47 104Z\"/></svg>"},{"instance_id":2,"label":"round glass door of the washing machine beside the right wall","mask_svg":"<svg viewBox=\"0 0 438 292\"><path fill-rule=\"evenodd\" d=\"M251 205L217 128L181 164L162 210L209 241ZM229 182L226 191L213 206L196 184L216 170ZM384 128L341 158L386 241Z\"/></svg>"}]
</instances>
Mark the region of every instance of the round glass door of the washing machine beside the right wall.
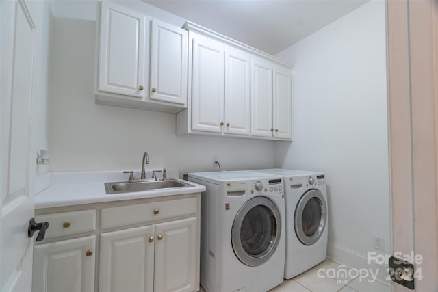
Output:
<instances>
[{"instance_id":1,"label":"round glass door of the washing machine beside the right wall","mask_svg":"<svg viewBox=\"0 0 438 292\"><path fill-rule=\"evenodd\" d=\"M298 240L313 245L320 239L326 226L327 206L318 189L310 189L296 204L294 226Z\"/></svg>"}]
</instances>

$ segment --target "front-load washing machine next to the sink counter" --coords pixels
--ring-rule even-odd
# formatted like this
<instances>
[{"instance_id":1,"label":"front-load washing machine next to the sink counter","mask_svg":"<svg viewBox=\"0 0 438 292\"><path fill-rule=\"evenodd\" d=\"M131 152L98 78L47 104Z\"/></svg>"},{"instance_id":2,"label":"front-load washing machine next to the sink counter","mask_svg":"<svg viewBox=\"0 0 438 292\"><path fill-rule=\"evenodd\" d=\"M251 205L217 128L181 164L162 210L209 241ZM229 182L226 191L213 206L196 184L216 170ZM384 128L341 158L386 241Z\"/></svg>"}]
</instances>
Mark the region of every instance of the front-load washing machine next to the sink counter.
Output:
<instances>
[{"instance_id":1,"label":"front-load washing machine next to the sink counter","mask_svg":"<svg viewBox=\"0 0 438 292\"><path fill-rule=\"evenodd\" d=\"M201 285L207 292L268 291L283 282L285 200L280 176L198 172Z\"/></svg>"}]
</instances>

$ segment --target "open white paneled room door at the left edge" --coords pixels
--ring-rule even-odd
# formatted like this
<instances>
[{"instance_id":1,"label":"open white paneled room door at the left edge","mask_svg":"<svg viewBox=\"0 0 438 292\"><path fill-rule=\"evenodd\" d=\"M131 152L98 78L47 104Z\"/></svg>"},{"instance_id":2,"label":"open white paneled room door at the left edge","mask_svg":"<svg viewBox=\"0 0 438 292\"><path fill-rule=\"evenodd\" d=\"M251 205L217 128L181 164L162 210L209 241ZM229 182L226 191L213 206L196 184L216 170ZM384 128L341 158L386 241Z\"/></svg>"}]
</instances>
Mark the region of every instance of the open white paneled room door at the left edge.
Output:
<instances>
[{"instance_id":1,"label":"open white paneled room door at the left edge","mask_svg":"<svg viewBox=\"0 0 438 292\"><path fill-rule=\"evenodd\" d=\"M30 291L33 243L27 226L34 215L36 168L36 155L29 154L35 27L21 0L1 1L0 13L0 291Z\"/></svg>"}]
</instances>

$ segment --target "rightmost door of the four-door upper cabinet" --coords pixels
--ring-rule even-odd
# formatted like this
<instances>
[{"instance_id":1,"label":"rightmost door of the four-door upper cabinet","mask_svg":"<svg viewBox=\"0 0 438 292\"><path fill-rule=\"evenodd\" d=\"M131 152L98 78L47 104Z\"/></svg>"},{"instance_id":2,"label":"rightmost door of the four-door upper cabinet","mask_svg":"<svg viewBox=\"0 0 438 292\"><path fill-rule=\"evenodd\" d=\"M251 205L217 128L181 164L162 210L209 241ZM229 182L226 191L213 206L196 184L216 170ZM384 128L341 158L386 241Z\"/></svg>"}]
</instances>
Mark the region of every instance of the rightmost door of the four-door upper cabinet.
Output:
<instances>
[{"instance_id":1,"label":"rightmost door of the four-door upper cabinet","mask_svg":"<svg viewBox=\"0 0 438 292\"><path fill-rule=\"evenodd\" d=\"M274 138L292 139L292 73L274 68Z\"/></svg>"}]
</instances>

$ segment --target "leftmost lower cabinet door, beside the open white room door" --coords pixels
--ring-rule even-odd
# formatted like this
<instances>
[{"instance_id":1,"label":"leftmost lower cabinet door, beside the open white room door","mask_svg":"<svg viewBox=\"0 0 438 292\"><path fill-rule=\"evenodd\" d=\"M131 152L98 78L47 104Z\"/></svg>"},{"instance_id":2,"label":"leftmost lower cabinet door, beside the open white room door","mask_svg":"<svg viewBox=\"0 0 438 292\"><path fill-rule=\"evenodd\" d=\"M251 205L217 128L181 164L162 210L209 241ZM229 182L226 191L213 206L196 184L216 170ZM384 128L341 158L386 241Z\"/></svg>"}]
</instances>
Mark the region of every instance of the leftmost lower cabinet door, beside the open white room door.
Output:
<instances>
[{"instance_id":1,"label":"leftmost lower cabinet door, beside the open white room door","mask_svg":"<svg viewBox=\"0 0 438 292\"><path fill-rule=\"evenodd\" d=\"M96 236L34 247L32 291L94 291Z\"/></svg>"}]
</instances>

